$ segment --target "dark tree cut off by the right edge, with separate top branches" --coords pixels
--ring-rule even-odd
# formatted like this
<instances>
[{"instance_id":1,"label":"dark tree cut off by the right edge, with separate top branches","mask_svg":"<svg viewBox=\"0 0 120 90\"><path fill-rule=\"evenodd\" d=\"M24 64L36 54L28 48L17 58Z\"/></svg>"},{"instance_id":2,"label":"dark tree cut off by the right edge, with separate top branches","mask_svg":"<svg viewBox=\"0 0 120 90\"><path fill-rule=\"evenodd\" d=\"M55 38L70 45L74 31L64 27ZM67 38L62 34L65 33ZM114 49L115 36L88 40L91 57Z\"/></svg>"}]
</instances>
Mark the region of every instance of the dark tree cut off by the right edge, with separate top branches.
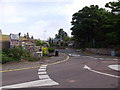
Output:
<instances>
[{"instance_id":1,"label":"dark tree cut off by the right edge, with separate top branches","mask_svg":"<svg viewBox=\"0 0 120 90\"><path fill-rule=\"evenodd\" d=\"M106 34L108 44L113 47L120 47L120 1L106 3L105 7L111 9L111 15L105 24L109 29Z\"/></svg>"}]
</instances>

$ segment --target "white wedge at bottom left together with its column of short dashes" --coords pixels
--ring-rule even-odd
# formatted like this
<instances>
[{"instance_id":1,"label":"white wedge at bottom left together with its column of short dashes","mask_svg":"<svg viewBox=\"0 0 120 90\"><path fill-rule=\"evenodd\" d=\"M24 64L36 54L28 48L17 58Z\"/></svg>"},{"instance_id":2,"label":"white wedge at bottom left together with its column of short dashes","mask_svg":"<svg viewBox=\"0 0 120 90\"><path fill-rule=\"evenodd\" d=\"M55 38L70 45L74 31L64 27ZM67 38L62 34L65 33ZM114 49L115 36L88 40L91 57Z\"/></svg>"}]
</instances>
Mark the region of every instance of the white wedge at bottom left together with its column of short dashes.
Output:
<instances>
[{"instance_id":1,"label":"white wedge at bottom left together with its column of short dashes","mask_svg":"<svg viewBox=\"0 0 120 90\"><path fill-rule=\"evenodd\" d=\"M42 67L42 69L38 69L39 79L41 79L41 80L2 86L2 87L0 87L0 89L2 89L2 88L8 88L8 89L10 89L10 88L30 88L30 87L39 87L39 86L59 85L59 83L53 81L47 75L47 72L46 72L47 65L42 65L41 67ZM43 67L44 67L44 69L43 69ZM45 75L43 75L43 74L45 74Z\"/></svg>"}]
</instances>

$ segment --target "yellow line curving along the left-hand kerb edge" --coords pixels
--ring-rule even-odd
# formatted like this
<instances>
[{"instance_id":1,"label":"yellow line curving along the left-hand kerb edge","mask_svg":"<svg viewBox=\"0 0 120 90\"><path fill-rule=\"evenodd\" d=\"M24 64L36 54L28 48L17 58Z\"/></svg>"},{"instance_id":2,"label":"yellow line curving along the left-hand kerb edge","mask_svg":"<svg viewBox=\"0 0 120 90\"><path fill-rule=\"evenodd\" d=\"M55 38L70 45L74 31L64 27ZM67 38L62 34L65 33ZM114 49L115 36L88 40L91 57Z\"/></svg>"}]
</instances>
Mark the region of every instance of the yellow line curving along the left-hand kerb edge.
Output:
<instances>
[{"instance_id":1,"label":"yellow line curving along the left-hand kerb edge","mask_svg":"<svg viewBox=\"0 0 120 90\"><path fill-rule=\"evenodd\" d=\"M44 64L44 65L55 65L55 64L62 63L62 62L65 62L65 61L69 60L70 57L68 55L66 55L66 54L63 54L63 55L66 56L66 59L58 61L58 62L50 63L50 64ZM26 69L38 68L38 67L41 67L41 65L33 66L33 67L27 67L27 68L20 68L20 69L3 70L3 71L0 71L0 72L21 71L21 70L26 70Z\"/></svg>"}]
</instances>

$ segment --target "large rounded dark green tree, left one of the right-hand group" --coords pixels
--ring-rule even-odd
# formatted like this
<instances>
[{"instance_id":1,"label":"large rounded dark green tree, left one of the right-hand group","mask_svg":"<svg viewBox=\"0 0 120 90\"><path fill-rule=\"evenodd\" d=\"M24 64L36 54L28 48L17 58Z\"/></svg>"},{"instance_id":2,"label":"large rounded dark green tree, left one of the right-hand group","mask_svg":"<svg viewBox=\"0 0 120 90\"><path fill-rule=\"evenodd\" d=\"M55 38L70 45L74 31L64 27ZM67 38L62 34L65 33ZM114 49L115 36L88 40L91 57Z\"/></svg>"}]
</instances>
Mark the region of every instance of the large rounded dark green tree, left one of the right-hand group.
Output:
<instances>
[{"instance_id":1,"label":"large rounded dark green tree, left one of the right-hand group","mask_svg":"<svg viewBox=\"0 0 120 90\"><path fill-rule=\"evenodd\" d=\"M107 11L99 8L98 5L86 6L73 14L71 22L73 25L71 28L72 35L76 41L81 42L83 48L88 44L94 47L95 42L102 41L103 37L100 29L106 14Z\"/></svg>"}]
</instances>

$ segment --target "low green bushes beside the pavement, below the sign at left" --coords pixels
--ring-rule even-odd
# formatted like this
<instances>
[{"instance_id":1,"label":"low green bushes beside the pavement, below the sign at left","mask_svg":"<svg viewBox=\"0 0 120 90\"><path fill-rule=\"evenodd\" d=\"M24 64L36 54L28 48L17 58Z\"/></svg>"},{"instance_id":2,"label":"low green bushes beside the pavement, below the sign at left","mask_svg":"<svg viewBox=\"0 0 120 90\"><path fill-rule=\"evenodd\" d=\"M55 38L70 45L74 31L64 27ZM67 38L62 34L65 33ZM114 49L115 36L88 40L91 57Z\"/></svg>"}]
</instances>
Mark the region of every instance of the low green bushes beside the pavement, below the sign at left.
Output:
<instances>
[{"instance_id":1,"label":"low green bushes beside the pavement, below the sign at left","mask_svg":"<svg viewBox=\"0 0 120 90\"><path fill-rule=\"evenodd\" d=\"M0 63L5 64L7 62L16 61L19 62L22 59L28 60L28 61L36 61L38 60L35 57L30 56L30 54L25 50L22 49L21 46L10 48L9 50L3 50L0 54L2 57L2 61Z\"/></svg>"}]
</instances>

